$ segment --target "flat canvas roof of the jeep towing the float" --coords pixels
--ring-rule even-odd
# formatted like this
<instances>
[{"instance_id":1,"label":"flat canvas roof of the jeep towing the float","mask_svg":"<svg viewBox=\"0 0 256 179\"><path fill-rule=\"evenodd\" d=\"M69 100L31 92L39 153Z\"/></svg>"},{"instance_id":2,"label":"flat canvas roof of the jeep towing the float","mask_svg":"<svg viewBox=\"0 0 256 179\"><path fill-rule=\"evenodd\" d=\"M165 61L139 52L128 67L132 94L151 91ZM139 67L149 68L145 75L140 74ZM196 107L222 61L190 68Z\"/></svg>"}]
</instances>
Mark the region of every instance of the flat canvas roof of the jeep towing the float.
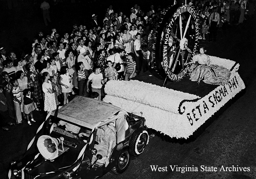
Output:
<instances>
[{"instance_id":1,"label":"flat canvas roof of the jeep towing the float","mask_svg":"<svg viewBox=\"0 0 256 179\"><path fill-rule=\"evenodd\" d=\"M83 96L75 96L68 104L58 109L57 117L93 129L99 122L111 118L121 108ZM52 115L54 116L55 111Z\"/></svg>"}]
</instances>

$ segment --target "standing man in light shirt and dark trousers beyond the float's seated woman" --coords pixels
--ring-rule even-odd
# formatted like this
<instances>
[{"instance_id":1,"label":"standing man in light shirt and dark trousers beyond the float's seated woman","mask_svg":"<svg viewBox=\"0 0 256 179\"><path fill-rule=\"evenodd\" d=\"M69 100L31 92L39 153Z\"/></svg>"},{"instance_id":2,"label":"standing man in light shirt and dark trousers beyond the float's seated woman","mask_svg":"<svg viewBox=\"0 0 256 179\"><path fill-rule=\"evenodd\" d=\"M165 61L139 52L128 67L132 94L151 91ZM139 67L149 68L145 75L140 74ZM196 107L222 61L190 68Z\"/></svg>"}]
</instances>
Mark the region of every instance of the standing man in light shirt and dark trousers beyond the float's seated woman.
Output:
<instances>
[{"instance_id":1,"label":"standing man in light shirt and dark trousers beyond the float's seated woman","mask_svg":"<svg viewBox=\"0 0 256 179\"><path fill-rule=\"evenodd\" d=\"M217 13L217 7L213 8L213 13L210 16L209 19L209 26L210 26L210 35L209 35L209 41L216 41L216 36L217 36L217 30L219 26L219 13Z\"/></svg>"}]
</instances>

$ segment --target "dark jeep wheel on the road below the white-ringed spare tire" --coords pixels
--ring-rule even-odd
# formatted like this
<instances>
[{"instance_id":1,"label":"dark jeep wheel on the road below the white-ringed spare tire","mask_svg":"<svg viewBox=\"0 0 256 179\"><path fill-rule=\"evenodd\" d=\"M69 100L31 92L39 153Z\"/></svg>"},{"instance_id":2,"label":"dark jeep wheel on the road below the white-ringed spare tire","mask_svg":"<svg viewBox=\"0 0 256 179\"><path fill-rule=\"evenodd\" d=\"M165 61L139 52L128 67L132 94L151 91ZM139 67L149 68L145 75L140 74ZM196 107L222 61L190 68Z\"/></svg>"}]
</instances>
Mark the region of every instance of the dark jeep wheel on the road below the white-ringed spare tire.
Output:
<instances>
[{"instance_id":1,"label":"dark jeep wheel on the road below the white-ringed spare tire","mask_svg":"<svg viewBox=\"0 0 256 179\"><path fill-rule=\"evenodd\" d=\"M112 168L112 172L114 174L122 174L128 168L131 161L131 156L129 153L128 147L125 147L123 150L120 151L116 166Z\"/></svg>"}]
</instances>

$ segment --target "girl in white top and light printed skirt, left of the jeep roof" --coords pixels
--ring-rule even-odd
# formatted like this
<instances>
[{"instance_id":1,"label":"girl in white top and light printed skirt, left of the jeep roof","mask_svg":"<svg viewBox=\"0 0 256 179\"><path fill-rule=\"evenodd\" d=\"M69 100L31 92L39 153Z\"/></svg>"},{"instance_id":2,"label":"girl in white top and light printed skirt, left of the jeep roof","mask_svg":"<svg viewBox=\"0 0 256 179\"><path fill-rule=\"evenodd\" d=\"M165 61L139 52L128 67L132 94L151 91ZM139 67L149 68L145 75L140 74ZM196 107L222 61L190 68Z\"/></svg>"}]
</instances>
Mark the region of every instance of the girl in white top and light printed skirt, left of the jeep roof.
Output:
<instances>
[{"instance_id":1,"label":"girl in white top and light printed skirt, left of the jeep roof","mask_svg":"<svg viewBox=\"0 0 256 179\"><path fill-rule=\"evenodd\" d=\"M50 79L50 75L48 72L44 72L42 74L42 78L44 83L42 85L44 92L44 111L53 111L57 109L56 98L55 98L55 90L52 86Z\"/></svg>"}]
</instances>

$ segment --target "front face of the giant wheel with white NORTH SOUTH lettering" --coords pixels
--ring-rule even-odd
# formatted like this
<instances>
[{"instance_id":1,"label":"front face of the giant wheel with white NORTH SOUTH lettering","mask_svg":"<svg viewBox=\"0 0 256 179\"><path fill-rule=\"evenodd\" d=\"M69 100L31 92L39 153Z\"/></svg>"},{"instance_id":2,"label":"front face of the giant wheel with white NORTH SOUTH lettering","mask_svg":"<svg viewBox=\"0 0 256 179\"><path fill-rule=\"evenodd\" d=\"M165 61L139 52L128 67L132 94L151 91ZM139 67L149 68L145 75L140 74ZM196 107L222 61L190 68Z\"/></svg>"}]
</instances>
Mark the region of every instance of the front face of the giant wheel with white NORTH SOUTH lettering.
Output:
<instances>
[{"instance_id":1,"label":"front face of the giant wheel with white NORTH SOUTH lettering","mask_svg":"<svg viewBox=\"0 0 256 179\"><path fill-rule=\"evenodd\" d=\"M190 5L179 7L163 31L162 66L166 75L179 81L188 72L185 63L195 55L198 44L199 25L194 8Z\"/></svg>"}]
</instances>

